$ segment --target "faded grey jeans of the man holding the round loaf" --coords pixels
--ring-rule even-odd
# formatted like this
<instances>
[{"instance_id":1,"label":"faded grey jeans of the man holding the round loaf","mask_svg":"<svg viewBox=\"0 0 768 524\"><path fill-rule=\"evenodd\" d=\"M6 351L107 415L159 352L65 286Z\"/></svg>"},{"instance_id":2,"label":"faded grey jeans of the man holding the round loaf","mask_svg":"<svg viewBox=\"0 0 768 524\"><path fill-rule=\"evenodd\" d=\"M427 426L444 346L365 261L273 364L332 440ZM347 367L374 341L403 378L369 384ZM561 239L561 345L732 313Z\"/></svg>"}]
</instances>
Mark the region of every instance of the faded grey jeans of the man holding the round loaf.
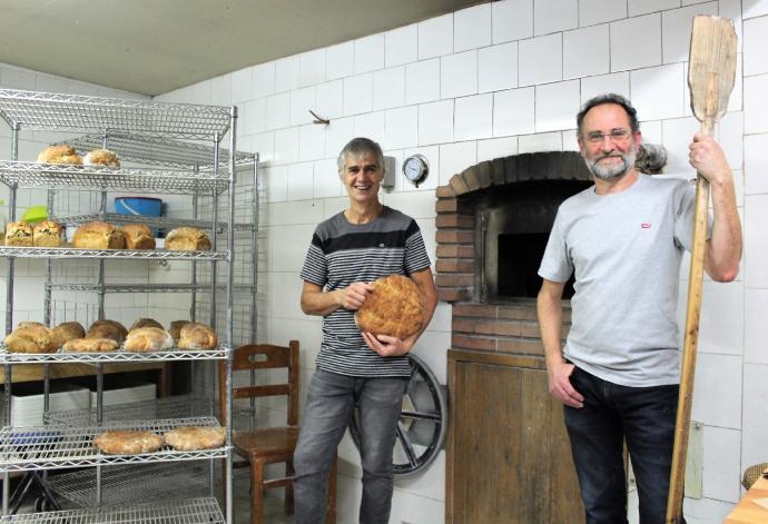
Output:
<instances>
[{"instance_id":1,"label":"faded grey jeans of the man holding the round loaf","mask_svg":"<svg viewBox=\"0 0 768 524\"><path fill-rule=\"evenodd\" d=\"M317 369L309 382L294 453L296 524L325 516L331 464L355 405L360 411L363 463L362 524L387 523L392 506L395 428L407 377L351 377Z\"/></svg>"}]
</instances>

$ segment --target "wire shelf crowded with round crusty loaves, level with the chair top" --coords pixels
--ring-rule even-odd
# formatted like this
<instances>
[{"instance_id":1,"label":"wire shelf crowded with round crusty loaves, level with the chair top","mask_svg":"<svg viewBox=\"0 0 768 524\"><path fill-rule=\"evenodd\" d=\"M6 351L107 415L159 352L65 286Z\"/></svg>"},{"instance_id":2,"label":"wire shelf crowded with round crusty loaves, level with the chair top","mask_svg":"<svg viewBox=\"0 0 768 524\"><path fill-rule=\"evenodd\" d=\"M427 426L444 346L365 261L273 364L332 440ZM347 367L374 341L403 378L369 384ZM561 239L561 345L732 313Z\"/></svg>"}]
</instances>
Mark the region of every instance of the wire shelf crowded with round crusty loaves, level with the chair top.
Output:
<instances>
[{"instance_id":1,"label":"wire shelf crowded with round crusty loaves, level with the chair top","mask_svg":"<svg viewBox=\"0 0 768 524\"><path fill-rule=\"evenodd\" d=\"M21 322L0 344L0 364L109 363L227 358L228 347L205 324L174 320L168 330L155 319L139 318L126 328L117 320L77 322L47 327Z\"/></svg>"}]
</instances>

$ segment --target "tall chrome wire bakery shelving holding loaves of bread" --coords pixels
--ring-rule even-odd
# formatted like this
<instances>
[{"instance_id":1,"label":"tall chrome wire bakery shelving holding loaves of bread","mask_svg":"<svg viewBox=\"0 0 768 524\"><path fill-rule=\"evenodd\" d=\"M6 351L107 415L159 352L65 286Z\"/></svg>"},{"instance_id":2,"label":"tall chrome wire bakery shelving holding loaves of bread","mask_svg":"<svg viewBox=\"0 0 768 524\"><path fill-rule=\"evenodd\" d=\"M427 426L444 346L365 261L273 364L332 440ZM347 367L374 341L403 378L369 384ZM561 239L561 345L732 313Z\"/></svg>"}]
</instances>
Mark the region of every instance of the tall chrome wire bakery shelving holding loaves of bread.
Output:
<instances>
[{"instance_id":1,"label":"tall chrome wire bakery shelving holding loaves of bread","mask_svg":"<svg viewBox=\"0 0 768 524\"><path fill-rule=\"evenodd\" d=\"M196 294L206 290L210 304L209 324L217 328L221 344L211 350L183 350L171 348L167 352L130 353L122 349L97 354L13 354L0 347L0 364L4 367L4 404L6 427L0 429L0 473L3 474L2 517L4 522L184 522L218 523L233 522L232 500L232 424L226 427L226 443L217 449L198 452L177 452L164 447L155 453L140 455L106 455L93 445L92 438L105 428L125 427L131 429L152 429L164 432L179 425L217 426L214 417L197 415L174 418L154 418L151 413L144 412L138 418L129 421L105 421L102 388L104 364L131 360L224 360L226 363L225 390L230 390L233 347L233 303L235 283L235 233L256 239L256 220L254 224L235 223L236 178L237 170L253 166L253 196L256 195L256 166L258 157L250 154L236 154L235 107L196 106L181 103L159 103L144 100L124 100L102 97L59 95L36 91L0 89L0 118L11 129L10 160L0 160L0 182L10 189L9 220L16 220L17 190L19 188L45 188L48 190L48 210L51 217L65 225L78 225L85 221L101 219L115 224L125 224L126 217L107 214L108 191L140 191L140 194L188 195L193 199L191 219L180 218L135 218L130 223L144 223L150 227L200 227L210 231L213 251L169 251L156 250L91 250L62 248L0 248L0 257L8 260L8 279L6 294L6 332L13 327L13 274L14 261L19 258L47 259L47 279L45 312L46 324L51 324L51 294L53 290L78 289L98 294L98 318L105 317L104 298L106 293L149 293L149 291L189 291L193 305L191 319L195 320ZM68 139L80 150L109 148L124 160L120 169L92 166L51 166L18 161L19 135L21 131L46 130L60 132L86 134ZM229 148L220 147L223 138L228 136ZM126 166L126 162L130 164ZM81 191L99 195L99 210L95 214L67 216L57 215L53 202L57 191ZM198 216L198 198L209 202L210 212ZM257 206L257 199L255 206ZM81 201L81 200L80 200ZM255 211L257 216L257 211ZM224 220L219 219L219 216ZM216 250L218 248L218 250ZM253 248L256 253L256 248ZM97 259L98 283L55 283L52 263L57 259ZM109 260L188 260L191 264L191 281L188 285L151 285L151 284L107 284L105 264ZM255 258L254 258L255 260ZM200 267L208 268L210 278L197 281ZM253 264L253 289L256 287L256 268ZM79 286L79 287L78 287ZM225 293L219 293L224 290ZM225 295L224 300L217 295ZM252 293L252 295L255 295ZM255 298L254 298L255 300ZM224 322L216 324L224 313ZM255 317L255 304L253 305ZM14 428L10 425L11 369L13 365L28 363L45 364L45 411L48 412L49 364L52 363L89 363L97 367L97 408L96 421L88 424L71 425L48 421L40 427ZM232 411L232 397L227 406ZM90 415L89 415L90 418ZM214 458L225 462L224 479L226 484L225 516L213 497ZM205 459L204 462L199 462ZM131 507L102 506L102 481L109 482L104 473L119 464L147 464L157 467L159 463L208 464L210 497L195 500L164 501L159 504ZM96 481L95 504L97 507L77 511L8 515L9 508L9 472L48 471L68 467L88 466L86 469ZM132 466L137 467L137 466ZM148 472L149 473L149 472Z\"/></svg>"}]
</instances>

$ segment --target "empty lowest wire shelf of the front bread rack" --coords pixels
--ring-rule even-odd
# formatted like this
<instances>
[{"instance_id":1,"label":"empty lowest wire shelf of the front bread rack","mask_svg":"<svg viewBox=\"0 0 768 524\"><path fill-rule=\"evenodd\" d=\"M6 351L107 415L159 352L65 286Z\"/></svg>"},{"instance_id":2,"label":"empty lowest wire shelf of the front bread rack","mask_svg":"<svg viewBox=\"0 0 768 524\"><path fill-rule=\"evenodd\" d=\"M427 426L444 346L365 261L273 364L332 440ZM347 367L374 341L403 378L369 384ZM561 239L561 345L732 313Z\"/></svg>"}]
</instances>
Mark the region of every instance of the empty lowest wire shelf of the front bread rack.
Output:
<instances>
[{"instance_id":1,"label":"empty lowest wire shelf of the front bread rack","mask_svg":"<svg viewBox=\"0 0 768 524\"><path fill-rule=\"evenodd\" d=\"M0 517L2 524L219 524L224 523L216 498L190 498L131 507L92 507L62 512L29 513Z\"/></svg>"}]
</instances>

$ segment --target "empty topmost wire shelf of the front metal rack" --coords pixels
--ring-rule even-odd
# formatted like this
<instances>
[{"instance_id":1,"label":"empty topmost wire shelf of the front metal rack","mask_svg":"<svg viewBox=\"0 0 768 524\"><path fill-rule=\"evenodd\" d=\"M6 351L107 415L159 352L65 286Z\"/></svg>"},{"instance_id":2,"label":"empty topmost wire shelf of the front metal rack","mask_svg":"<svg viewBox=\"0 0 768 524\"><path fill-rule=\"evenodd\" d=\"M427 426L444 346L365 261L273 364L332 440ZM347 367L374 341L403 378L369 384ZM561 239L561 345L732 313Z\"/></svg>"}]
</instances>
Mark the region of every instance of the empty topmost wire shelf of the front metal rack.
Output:
<instances>
[{"instance_id":1,"label":"empty topmost wire shelf of the front metal rack","mask_svg":"<svg viewBox=\"0 0 768 524\"><path fill-rule=\"evenodd\" d=\"M33 131L120 129L145 136L219 140L229 130L232 109L190 103L0 89L0 117Z\"/></svg>"}]
</instances>

